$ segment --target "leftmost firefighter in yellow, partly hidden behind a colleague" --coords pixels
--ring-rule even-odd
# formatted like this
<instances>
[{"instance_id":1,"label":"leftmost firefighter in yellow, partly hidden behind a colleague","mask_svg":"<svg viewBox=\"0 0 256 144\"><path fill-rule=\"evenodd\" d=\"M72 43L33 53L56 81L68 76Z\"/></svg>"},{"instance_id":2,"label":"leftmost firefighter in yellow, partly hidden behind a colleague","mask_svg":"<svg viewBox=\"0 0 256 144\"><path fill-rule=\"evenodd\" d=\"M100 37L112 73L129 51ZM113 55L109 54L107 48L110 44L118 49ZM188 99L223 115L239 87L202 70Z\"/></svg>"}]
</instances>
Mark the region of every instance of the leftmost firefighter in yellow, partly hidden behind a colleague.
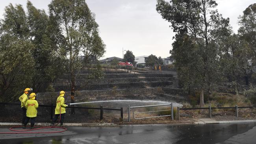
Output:
<instances>
[{"instance_id":1,"label":"leftmost firefighter in yellow, partly hidden behind a colleague","mask_svg":"<svg viewBox=\"0 0 256 144\"><path fill-rule=\"evenodd\" d=\"M25 104L28 100L28 96L30 94L30 91L31 89L30 88L26 88L24 90L24 93L19 97L19 100L20 100L20 106L21 106L21 109L22 109L22 125L24 125L24 122L25 122L25 119L26 119L26 107L25 107Z\"/></svg>"}]
</instances>

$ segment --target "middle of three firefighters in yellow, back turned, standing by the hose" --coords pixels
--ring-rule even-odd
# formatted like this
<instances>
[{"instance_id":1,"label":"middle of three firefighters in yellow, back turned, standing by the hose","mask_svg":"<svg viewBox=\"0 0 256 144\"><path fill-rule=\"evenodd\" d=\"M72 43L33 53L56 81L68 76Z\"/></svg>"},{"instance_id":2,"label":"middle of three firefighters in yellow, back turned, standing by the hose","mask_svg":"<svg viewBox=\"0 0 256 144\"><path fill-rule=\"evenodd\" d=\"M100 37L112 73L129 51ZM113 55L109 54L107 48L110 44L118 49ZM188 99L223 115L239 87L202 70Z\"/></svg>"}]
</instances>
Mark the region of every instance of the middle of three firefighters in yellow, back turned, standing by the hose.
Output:
<instances>
[{"instance_id":1,"label":"middle of three firefighters in yellow, back turned, standing by the hose","mask_svg":"<svg viewBox=\"0 0 256 144\"><path fill-rule=\"evenodd\" d=\"M30 126L31 129L33 129L33 126L35 124L35 118L37 117L37 108L38 108L38 103L37 100L35 100L35 93L31 93L29 96L29 100L26 102L25 107L27 109L26 113L26 120L23 125L23 129L26 129L26 125L28 124L28 121L30 120Z\"/></svg>"}]
</instances>

